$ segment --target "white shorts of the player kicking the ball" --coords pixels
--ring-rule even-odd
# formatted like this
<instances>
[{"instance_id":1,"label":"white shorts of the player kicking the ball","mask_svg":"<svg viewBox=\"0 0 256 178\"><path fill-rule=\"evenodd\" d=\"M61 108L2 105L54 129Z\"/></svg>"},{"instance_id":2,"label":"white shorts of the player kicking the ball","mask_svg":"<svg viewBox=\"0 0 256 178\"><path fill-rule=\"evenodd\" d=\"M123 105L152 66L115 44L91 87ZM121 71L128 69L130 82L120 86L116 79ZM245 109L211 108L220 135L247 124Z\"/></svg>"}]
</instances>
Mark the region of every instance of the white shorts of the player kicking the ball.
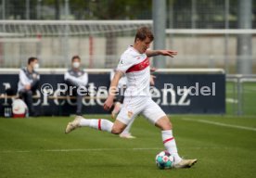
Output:
<instances>
[{"instance_id":1,"label":"white shorts of the player kicking the ball","mask_svg":"<svg viewBox=\"0 0 256 178\"><path fill-rule=\"evenodd\" d=\"M121 111L117 116L118 121L128 125L130 121L142 114L155 124L161 117L166 116L160 106L148 96L127 96L123 100Z\"/></svg>"}]
</instances>

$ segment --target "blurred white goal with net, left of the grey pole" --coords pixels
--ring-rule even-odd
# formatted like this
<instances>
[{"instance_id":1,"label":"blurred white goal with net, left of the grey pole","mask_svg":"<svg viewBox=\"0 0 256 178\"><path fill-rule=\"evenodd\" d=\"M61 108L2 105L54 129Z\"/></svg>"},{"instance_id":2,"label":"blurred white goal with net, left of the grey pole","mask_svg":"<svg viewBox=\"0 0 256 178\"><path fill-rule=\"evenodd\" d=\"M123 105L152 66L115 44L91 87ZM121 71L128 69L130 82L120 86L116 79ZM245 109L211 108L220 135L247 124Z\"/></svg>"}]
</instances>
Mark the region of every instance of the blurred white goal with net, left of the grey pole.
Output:
<instances>
[{"instance_id":1,"label":"blurred white goal with net, left of the grey pole","mask_svg":"<svg viewBox=\"0 0 256 178\"><path fill-rule=\"evenodd\" d=\"M122 51L134 42L140 26L151 20L5 20L0 39L5 67L26 65L36 56L43 68L67 68L79 55L85 68L113 68ZM2 41L1 41L2 40Z\"/></svg>"}]
</instances>

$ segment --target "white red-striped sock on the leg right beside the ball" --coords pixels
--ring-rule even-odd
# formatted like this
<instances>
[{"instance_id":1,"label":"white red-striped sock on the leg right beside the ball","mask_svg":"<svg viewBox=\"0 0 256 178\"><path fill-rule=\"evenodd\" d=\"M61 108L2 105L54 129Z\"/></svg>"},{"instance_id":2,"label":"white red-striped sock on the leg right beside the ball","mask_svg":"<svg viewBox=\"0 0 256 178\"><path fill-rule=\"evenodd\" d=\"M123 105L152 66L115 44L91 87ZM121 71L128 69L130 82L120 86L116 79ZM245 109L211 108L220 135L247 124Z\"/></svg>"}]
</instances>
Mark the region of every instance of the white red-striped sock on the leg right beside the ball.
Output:
<instances>
[{"instance_id":1,"label":"white red-striped sock on the leg right beside the ball","mask_svg":"<svg viewBox=\"0 0 256 178\"><path fill-rule=\"evenodd\" d=\"M176 142L173 137L173 131L172 130L162 131L161 136L162 136L163 145L165 146L167 151L169 151L173 155L174 162L177 163L177 162L181 161L182 159L180 158L180 156L178 154Z\"/></svg>"}]
</instances>

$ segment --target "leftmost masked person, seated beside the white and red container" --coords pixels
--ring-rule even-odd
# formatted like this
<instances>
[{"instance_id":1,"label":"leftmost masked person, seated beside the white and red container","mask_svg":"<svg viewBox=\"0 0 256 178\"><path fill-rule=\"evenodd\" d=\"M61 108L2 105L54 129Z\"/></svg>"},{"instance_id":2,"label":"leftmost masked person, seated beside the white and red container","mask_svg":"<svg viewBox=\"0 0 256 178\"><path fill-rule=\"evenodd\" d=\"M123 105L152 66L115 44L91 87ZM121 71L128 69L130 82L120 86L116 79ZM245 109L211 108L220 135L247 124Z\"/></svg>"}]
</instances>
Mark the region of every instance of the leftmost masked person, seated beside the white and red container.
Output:
<instances>
[{"instance_id":1,"label":"leftmost masked person, seated beside the white and red container","mask_svg":"<svg viewBox=\"0 0 256 178\"><path fill-rule=\"evenodd\" d=\"M29 57L27 67L19 71L18 93L19 97L27 104L30 116L38 116L32 106L32 95L35 94L40 80L40 75L36 71L38 68L38 59Z\"/></svg>"}]
</instances>

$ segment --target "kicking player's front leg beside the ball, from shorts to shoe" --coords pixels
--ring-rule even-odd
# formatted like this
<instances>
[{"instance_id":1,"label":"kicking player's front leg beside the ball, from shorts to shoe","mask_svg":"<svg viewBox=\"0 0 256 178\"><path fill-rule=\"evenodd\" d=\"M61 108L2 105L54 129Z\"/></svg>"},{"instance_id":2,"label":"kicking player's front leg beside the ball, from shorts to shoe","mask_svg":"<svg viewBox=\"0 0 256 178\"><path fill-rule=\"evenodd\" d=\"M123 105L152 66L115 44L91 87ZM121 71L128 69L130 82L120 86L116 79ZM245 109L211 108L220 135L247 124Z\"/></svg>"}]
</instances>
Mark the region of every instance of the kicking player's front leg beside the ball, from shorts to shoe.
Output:
<instances>
[{"instance_id":1,"label":"kicking player's front leg beside the ball, from shorts to shoe","mask_svg":"<svg viewBox=\"0 0 256 178\"><path fill-rule=\"evenodd\" d=\"M173 155L174 157L174 167L176 168L185 168L191 167L197 159L181 159L178 154L178 149L176 142L173 136L173 124L153 100L147 102L147 108L144 109L143 115L147 119L153 122L161 130L162 142L165 148Z\"/></svg>"}]
</instances>

